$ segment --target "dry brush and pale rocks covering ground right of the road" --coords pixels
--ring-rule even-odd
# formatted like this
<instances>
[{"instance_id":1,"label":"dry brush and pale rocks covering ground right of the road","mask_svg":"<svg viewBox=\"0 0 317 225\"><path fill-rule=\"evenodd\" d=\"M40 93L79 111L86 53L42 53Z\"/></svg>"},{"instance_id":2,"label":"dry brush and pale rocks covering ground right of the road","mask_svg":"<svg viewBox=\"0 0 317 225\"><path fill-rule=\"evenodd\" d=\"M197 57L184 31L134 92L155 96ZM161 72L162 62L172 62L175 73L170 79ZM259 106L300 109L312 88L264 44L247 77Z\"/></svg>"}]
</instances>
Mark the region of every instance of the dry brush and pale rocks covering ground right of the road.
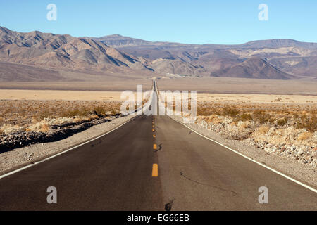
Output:
<instances>
[{"instance_id":1,"label":"dry brush and pale rocks covering ground right of the road","mask_svg":"<svg viewBox=\"0 0 317 225\"><path fill-rule=\"evenodd\" d=\"M268 152L316 167L317 105L201 102L197 123L227 139L245 140Z\"/></svg>"}]
</instances>

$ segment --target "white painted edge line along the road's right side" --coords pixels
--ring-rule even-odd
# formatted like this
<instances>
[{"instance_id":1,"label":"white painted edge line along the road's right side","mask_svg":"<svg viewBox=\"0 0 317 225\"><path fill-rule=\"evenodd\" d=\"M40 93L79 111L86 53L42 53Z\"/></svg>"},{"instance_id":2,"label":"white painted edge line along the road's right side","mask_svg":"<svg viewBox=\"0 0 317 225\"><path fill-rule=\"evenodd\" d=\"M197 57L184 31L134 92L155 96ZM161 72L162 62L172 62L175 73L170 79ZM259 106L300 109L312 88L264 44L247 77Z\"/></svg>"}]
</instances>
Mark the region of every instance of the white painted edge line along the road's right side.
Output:
<instances>
[{"instance_id":1,"label":"white painted edge line along the road's right side","mask_svg":"<svg viewBox=\"0 0 317 225\"><path fill-rule=\"evenodd\" d=\"M172 117L170 117L170 119L175 120L175 119L172 118ZM242 153L239 153L239 152L237 152L236 150L233 150L232 148L229 148L228 146L225 146L225 145L223 145L222 143L220 143L220 142L218 142L218 141L215 141L215 140L213 140L213 139L210 139L208 136L204 136L203 134L199 134L199 132L195 131L194 129L188 127L186 124L184 124L184 123L182 123L182 122L180 122L180 121L178 121L178 120L175 120L175 121L178 122L178 123L180 123L180 124L182 124L183 126L187 127L188 129L190 129L191 131L195 132L195 133L198 134L199 136L202 136L202 137L204 137L205 139L208 139L209 141L213 141L213 142L215 142L215 143L218 143L218 145L223 146L223 147L225 147L225 148L231 150L232 152L237 153L238 155L241 155L242 157L247 158L248 160L251 160L252 162L255 162L256 164L261 165L262 167L265 167L266 169L269 169L269 170L271 170L272 172L275 172L276 174L279 174L280 176L284 176L286 179L289 179L290 181L293 181L293 182L295 182L296 184L299 184L299 185L303 186L304 188L307 188L307 189L309 189L309 190L311 190L311 191L317 193L317 190L316 190L315 188L312 188L311 186L308 186L308 185L306 185L306 184L303 184L302 182L297 181L297 180L293 179L293 178L290 177L290 176L287 176L287 175L285 175L285 174L282 174L281 172L278 172L277 170L272 169L271 167L268 167L267 165L264 165L264 164L261 163L261 162L258 162L258 161L256 161L256 160L253 160L253 159L249 158L247 155L243 155Z\"/></svg>"}]
</instances>

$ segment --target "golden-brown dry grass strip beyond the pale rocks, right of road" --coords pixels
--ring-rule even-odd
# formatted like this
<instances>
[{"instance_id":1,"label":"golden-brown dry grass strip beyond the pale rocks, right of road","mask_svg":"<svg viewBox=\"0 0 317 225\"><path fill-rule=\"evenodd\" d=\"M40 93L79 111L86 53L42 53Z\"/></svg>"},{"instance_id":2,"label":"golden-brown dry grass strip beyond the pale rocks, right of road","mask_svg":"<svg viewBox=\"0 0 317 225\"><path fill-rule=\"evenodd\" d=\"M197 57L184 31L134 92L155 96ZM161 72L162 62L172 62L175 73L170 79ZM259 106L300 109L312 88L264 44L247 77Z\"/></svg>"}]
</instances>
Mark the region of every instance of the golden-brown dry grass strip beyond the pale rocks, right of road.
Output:
<instances>
[{"instance_id":1,"label":"golden-brown dry grass strip beyond the pale rocks, right of road","mask_svg":"<svg viewBox=\"0 0 317 225\"><path fill-rule=\"evenodd\" d=\"M285 127L294 126L314 132L317 130L316 104L278 104L278 103L219 103L197 104L198 116L217 115L235 121L254 121L262 124Z\"/></svg>"}]
</instances>

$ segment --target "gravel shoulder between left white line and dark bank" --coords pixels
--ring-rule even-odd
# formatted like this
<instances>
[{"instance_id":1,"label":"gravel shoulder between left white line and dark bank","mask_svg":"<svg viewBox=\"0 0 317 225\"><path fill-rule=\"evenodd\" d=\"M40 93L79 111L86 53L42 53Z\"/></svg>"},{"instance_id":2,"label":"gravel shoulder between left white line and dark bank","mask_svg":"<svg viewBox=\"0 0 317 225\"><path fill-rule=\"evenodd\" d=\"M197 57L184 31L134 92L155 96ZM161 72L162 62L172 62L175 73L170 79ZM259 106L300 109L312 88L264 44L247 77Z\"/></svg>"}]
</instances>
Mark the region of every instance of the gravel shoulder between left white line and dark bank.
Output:
<instances>
[{"instance_id":1,"label":"gravel shoulder between left white line and dark bank","mask_svg":"<svg viewBox=\"0 0 317 225\"><path fill-rule=\"evenodd\" d=\"M118 117L109 122L97 124L85 131L69 136L66 139L49 142L49 143L37 143L24 148L15 148L14 150L0 154L0 174L5 174L13 169L22 167L23 165L30 164L42 158L46 158L49 155L66 150L79 143L85 142L89 139L93 139L96 136L111 131L120 126L124 122L131 120L133 117L129 115L127 117Z\"/></svg>"}]
</instances>

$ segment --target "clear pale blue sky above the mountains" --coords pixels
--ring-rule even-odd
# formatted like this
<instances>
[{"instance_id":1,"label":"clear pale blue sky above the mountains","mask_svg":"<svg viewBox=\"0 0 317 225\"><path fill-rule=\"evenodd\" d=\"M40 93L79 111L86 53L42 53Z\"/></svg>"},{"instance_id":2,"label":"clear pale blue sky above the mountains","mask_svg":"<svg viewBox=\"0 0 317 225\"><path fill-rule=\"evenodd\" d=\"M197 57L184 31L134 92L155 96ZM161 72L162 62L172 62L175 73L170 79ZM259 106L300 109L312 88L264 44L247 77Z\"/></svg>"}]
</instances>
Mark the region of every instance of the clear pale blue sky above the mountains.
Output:
<instances>
[{"instance_id":1,"label":"clear pale blue sky above the mountains","mask_svg":"<svg viewBox=\"0 0 317 225\"><path fill-rule=\"evenodd\" d=\"M57 21L46 6L57 6ZM268 21L258 19L268 5ZM316 0L10 0L0 1L0 25L75 37L109 34L149 41L240 44L259 39L317 42Z\"/></svg>"}]
</instances>

